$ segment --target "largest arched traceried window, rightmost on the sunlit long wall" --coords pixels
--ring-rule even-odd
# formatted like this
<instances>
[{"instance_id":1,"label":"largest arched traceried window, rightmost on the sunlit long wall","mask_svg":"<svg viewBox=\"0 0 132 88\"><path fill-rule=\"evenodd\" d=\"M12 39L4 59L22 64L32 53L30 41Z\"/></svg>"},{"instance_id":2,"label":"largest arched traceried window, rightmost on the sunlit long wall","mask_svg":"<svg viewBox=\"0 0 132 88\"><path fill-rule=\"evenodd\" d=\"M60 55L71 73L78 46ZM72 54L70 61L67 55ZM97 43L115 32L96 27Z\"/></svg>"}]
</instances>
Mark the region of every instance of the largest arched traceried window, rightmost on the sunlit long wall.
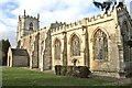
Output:
<instances>
[{"instance_id":1,"label":"largest arched traceried window, rightmost on the sunlit long wall","mask_svg":"<svg viewBox=\"0 0 132 88\"><path fill-rule=\"evenodd\" d=\"M98 30L94 36L95 59L108 58L108 38L105 32Z\"/></svg>"}]
</instances>

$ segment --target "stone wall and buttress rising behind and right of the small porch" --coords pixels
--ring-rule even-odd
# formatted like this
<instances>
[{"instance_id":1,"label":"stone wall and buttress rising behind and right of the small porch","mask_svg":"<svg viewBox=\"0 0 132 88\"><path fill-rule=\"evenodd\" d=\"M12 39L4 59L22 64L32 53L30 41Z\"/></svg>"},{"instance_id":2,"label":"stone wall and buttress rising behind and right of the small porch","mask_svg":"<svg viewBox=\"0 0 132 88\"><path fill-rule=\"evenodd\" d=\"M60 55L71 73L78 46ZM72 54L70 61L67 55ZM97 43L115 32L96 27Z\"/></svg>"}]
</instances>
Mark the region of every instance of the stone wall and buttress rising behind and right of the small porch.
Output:
<instances>
[{"instance_id":1,"label":"stone wall and buttress rising behind and right of the small porch","mask_svg":"<svg viewBox=\"0 0 132 88\"><path fill-rule=\"evenodd\" d=\"M38 35L37 32L23 36L21 41L21 48L28 50L30 55L30 67L38 68Z\"/></svg>"}]
</instances>

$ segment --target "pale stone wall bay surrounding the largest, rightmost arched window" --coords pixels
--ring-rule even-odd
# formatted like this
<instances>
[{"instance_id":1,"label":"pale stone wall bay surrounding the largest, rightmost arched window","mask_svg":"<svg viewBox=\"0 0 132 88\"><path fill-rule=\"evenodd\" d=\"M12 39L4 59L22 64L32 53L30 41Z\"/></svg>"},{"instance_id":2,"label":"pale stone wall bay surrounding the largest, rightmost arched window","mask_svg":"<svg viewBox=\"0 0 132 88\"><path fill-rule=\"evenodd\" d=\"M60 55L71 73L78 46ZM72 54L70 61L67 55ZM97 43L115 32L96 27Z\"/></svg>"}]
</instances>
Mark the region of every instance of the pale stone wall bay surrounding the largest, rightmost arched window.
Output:
<instances>
[{"instance_id":1,"label":"pale stone wall bay surrounding the largest, rightmost arched window","mask_svg":"<svg viewBox=\"0 0 132 88\"><path fill-rule=\"evenodd\" d=\"M107 18L106 20L100 20L99 24L94 22L91 25L88 26L88 42L89 42L89 52L90 52L90 69L91 70L119 70L119 53L117 47L117 29L114 28L114 20L112 16ZM108 40L108 57L96 59L95 58L95 46L94 46L94 38L95 33L101 30Z\"/></svg>"}]
</instances>

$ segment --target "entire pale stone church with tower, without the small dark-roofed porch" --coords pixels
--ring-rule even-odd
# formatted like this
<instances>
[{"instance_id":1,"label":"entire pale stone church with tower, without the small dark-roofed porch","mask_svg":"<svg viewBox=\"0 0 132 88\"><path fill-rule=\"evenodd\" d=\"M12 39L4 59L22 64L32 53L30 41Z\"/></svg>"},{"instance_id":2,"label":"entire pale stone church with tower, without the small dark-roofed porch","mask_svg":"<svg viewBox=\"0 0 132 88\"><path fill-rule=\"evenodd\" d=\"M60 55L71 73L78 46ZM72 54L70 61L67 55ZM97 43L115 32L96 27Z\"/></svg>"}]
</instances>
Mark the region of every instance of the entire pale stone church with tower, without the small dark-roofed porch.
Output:
<instances>
[{"instance_id":1,"label":"entire pale stone church with tower, without the small dark-roofed porch","mask_svg":"<svg viewBox=\"0 0 132 88\"><path fill-rule=\"evenodd\" d=\"M30 68L54 69L55 65L88 66L92 74L124 77L132 73L132 19L127 8L77 22L51 23L40 29L37 18L19 15L16 48L29 53Z\"/></svg>"}]
</instances>

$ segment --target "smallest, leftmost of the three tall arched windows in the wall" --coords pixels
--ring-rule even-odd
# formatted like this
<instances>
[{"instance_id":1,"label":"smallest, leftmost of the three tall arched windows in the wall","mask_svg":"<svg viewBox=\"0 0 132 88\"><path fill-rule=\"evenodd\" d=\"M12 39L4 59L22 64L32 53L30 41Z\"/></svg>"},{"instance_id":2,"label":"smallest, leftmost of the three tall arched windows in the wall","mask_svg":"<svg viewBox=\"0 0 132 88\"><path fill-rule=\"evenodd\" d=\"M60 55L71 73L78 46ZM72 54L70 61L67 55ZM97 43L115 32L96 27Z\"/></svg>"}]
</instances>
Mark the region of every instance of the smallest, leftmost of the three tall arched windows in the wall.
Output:
<instances>
[{"instance_id":1,"label":"smallest, leftmost of the three tall arched windows in the wall","mask_svg":"<svg viewBox=\"0 0 132 88\"><path fill-rule=\"evenodd\" d=\"M55 59L61 59L61 41L58 38L55 40Z\"/></svg>"}]
</instances>

